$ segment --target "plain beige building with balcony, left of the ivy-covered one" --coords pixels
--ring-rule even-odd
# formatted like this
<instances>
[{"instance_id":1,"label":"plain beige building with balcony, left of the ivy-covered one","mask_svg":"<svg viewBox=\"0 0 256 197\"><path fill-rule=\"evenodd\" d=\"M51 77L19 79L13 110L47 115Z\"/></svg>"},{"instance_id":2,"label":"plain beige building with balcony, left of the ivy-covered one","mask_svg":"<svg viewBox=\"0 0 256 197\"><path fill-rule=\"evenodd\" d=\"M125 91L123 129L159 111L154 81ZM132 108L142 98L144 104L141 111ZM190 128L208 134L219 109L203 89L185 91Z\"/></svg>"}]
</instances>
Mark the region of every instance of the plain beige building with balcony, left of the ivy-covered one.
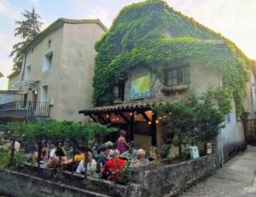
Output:
<instances>
[{"instance_id":1,"label":"plain beige building with balcony, left of the ivy-covered one","mask_svg":"<svg viewBox=\"0 0 256 197\"><path fill-rule=\"evenodd\" d=\"M0 117L85 121L82 107L92 107L94 45L107 28L100 20L58 19L23 50L20 72L9 75L11 102Z\"/></svg>"}]
</instances>

